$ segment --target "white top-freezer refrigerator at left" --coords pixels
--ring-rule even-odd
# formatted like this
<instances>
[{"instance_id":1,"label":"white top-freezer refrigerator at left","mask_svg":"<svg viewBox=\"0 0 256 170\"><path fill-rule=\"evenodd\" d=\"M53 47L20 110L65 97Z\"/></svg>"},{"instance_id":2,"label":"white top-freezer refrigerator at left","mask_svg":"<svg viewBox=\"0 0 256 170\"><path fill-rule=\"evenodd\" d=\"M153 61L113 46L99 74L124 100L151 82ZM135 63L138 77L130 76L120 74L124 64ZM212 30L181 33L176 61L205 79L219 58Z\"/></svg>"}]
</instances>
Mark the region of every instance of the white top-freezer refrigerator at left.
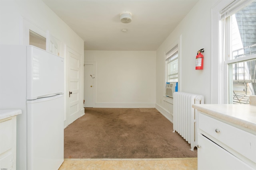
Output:
<instances>
[{"instance_id":1,"label":"white top-freezer refrigerator at left","mask_svg":"<svg viewBox=\"0 0 256 170\"><path fill-rule=\"evenodd\" d=\"M0 109L17 116L17 170L64 161L64 59L34 46L0 46Z\"/></svg>"}]
</instances>

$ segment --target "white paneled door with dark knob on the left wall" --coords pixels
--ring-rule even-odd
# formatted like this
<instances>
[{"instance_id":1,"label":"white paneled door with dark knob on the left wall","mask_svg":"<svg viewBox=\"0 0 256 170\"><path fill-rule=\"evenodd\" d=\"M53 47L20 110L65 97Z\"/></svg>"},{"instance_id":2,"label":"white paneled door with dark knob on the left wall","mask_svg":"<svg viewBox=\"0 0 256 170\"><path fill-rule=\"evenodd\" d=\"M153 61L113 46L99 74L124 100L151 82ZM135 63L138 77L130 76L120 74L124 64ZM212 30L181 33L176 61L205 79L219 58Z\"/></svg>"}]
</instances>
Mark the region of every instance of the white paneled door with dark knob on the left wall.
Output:
<instances>
[{"instance_id":1,"label":"white paneled door with dark knob on the left wall","mask_svg":"<svg viewBox=\"0 0 256 170\"><path fill-rule=\"evenodd\" d=\"M68 124L80 117L80 57L68 52Z\"/></svg>"}]
</instances>

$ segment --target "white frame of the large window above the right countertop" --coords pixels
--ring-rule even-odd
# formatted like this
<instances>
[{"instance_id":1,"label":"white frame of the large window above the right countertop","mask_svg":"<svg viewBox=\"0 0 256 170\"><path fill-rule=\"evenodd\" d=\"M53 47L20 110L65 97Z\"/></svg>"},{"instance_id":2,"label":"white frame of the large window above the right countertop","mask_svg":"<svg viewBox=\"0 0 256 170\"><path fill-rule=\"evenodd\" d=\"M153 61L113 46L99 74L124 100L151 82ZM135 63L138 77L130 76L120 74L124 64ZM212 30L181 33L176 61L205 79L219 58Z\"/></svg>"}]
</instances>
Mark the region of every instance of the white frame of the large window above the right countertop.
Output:
<instances>
[{"instance_id":1,"label":"white frame of the large window above the right countertop","mask_svg":"<svg viewBox=\"0 0 256 170\"><path fill-rule=\"evenodd\" d=\"M241 6L246 6L254 0L227 0L218 2L211 10L212 14L212 73L211 73L211 104L228 104L228 64L236 63L241 60L254 59L253 56L243 57L243 59L226 60L223 48L224 37L226 32L224 30L225 23L222 20L223 11L230 15L234 11L241 9ZM235 5L235 8L232 5ZM240 6L239 6L240 5ZM240 8L240 9L239 9ZM231 9L231 10L230 10Z\"/></svg>"}]
</instances>

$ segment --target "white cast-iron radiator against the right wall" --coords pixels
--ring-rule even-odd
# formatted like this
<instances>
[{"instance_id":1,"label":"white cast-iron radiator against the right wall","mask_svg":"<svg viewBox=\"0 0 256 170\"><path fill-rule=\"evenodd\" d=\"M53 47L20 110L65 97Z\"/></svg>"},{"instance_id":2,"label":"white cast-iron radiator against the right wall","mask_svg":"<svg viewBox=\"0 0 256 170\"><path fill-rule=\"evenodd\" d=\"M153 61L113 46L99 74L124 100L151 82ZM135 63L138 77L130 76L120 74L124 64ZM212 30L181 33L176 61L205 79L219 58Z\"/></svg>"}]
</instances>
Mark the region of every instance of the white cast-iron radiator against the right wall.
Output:
<instances>
[{"instance_id":1,"label":"white cast-iron radiator against the right wall","mask_svg":"<svg viewBox=\"0 0 256 170\"><path fill-rule=\"evenodd\" d=\"M191 146L197 147L197 115L192 104L204 104L204 96L185 92L173 94L173 132L178 132Z\"/></svg>"}]
</instances>

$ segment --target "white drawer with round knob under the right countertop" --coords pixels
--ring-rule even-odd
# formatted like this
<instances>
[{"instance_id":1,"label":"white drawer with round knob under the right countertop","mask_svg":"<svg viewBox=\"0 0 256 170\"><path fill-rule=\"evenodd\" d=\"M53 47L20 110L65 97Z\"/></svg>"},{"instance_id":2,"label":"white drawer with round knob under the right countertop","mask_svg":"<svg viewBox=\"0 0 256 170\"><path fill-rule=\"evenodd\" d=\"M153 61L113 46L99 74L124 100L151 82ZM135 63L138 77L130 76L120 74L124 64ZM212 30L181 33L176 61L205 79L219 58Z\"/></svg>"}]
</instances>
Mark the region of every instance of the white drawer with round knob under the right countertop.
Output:
<instances>
[{"instance_id":1,"label":"white drawer with round knob under the right countertop","mask_svg":"<svg viewBox=\"0 0 256 170\"><path fill-rule=\"evenodd\" d=\"M201 113L198 115L198 121L199 129L214 137L214 142L221 146L221 143L223 143L246 158L256 162L256 135ZM223 147L225 148L225 146Z\"/></svg>"}]
</instances>

